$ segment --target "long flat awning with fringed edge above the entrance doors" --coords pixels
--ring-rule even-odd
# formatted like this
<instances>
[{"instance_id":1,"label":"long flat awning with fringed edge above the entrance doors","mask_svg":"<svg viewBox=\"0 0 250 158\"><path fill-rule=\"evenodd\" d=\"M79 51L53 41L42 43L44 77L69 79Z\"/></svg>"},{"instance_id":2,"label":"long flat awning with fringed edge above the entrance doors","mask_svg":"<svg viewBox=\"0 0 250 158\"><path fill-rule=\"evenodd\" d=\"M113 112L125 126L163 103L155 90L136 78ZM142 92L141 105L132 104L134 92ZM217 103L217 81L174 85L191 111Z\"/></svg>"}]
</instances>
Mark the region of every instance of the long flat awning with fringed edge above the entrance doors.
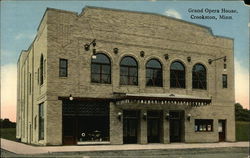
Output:
<instances>
[{"instance_id":1,"label":"long flat awning with fringed edge above the entrance doors","mask_svg":"<svg viewBox=\"0 0 250 158\"><path fill-rule=\"evenodd\" d=\"M180 95L170 93L114 93L116 104L140 103L140 104L178 104L190 106L203 106L211 103L209 97Z\"/></svg>"}]
</instances>

